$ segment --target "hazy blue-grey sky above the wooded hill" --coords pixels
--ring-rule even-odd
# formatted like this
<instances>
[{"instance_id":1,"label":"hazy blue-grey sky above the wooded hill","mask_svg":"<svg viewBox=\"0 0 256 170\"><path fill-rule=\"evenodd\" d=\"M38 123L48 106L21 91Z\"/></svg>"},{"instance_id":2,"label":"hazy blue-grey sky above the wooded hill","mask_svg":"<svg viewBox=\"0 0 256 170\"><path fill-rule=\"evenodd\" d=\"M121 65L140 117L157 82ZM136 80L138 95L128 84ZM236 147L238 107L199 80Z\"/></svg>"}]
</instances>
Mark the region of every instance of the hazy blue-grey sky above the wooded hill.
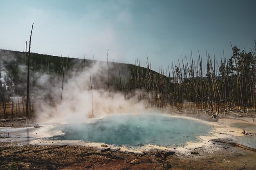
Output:
<instances>
[{"instance_id":1,"label":"hazy blue-grey sky above the wooded hill","mask_svg":"<svg viewBox=\"0 0 256 170\"><path fill-rule=\"evenodd\" d=\"M256 0L0 0L0 49L141 66L254 47Z\"/></svg>"}]
</instances>

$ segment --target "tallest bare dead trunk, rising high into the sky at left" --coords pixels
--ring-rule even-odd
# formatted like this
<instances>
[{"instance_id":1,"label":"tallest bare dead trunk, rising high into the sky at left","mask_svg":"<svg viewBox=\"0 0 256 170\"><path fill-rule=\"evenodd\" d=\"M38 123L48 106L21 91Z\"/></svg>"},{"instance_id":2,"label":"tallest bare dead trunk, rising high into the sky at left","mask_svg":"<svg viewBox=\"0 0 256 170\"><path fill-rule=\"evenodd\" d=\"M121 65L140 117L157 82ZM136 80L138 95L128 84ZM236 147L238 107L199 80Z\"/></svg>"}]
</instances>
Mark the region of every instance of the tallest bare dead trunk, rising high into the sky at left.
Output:
<instances>
[{"instance_id":1,"label":"tallest bare dead trunk, rising high into the sky at left","mask_svg":"<svg viewBox=\"0 0 256 170\"><path fill-rule=\"evenodd\" d=\"M26 121L27 124L29 124L29 59L30 59L30 47L31 47L31 36L32 36L32 31L33 31L33 25L31 28L31 33L30 33L30 39L29 39L29 55L28 55L28 61L27 61L27 103L26 103ZM26 47L27 51L27 47Z\"/></svg>"}]
</instances>

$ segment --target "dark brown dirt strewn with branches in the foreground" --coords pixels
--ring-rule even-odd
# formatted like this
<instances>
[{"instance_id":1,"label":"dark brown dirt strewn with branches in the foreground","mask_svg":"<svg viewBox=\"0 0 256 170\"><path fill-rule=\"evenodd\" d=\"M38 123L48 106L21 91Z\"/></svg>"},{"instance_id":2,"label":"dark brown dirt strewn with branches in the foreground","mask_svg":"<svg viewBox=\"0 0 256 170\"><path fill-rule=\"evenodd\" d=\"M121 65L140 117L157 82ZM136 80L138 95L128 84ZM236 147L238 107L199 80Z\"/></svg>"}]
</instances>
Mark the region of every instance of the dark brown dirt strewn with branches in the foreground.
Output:
<instances>
[{"instance_id":1,"label":"dark brown dirt strewn with branches in the foreground","mask_svg":"<svg viewBox=\"0 0 256 170\"><path fill-rule=\"evenodd\" d=\"M11 126L0 122L0 126ZM14 127L24 127L25 121L13 121ZM111 149L101 152L98 148L85 146L28 145L22 141L1 142L1 170L256 170L256 152L230 144L212 142L219 150L204 147L189 150L187 154L176 152L161 157L160 150L146 154L119 152ZM47 149L53 148L53 149ZM47 149L47 150L43 150ZM38 151L42 150L42 151ZM33 152L31 152L33 151ZM35 152L38 151L38 152ZM190 151L198 152L198 155ZM137 159L136 164L131 161Z\"/></svg>"}]
</instances>

